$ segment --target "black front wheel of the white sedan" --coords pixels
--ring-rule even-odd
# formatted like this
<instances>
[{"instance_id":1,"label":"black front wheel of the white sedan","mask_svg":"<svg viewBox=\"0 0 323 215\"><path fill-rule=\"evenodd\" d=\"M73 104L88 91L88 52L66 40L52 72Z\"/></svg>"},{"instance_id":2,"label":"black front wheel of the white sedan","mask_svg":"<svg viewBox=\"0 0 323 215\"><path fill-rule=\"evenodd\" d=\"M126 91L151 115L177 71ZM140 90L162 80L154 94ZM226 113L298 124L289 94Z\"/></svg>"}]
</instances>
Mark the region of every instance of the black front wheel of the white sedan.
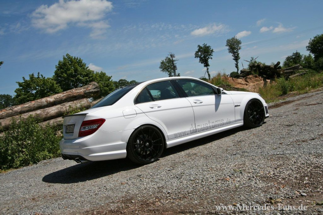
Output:
<instances>
[{"instance_id":1,"label":"black front wheel of the white sedan","mask_svg":"<svg viewBox=\"0 0 323 215\"><path fill-rule=\"evenodd\" d=\"M262 125L265 118L262 103L257 99L250 100L244 109L243 124L248 128L255 128Z\"/></svg>"}]
</instances>

